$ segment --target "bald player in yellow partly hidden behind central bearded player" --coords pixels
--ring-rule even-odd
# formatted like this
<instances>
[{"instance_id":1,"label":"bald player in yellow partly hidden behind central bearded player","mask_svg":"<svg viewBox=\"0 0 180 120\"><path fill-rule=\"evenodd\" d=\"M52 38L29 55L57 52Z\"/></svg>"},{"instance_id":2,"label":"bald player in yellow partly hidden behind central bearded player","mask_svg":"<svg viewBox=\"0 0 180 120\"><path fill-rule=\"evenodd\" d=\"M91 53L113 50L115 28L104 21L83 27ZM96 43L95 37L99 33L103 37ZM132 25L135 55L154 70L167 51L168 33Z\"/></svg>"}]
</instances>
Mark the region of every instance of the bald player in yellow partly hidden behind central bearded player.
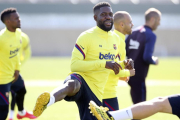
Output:
<instances>
[{"instance_id":1,"label":"bald player in yellow partly hidden behind central bearded player","mask_svg":"<svg viewBox=\"0 0 180 120\"><path fill-rule=\"evenodd\" d=\"M118 11L114 14L114 32L120 37L120 49L118 57L120 61L124 61L126 58L125 49L125 35L129 35L132 32L132 19L128 12ZM131 61L133 62L133 61ZM133 68L133 67L132 67ZM119 110L119 104L117 99L117 86L119 78L127 81L129 76L135 75L134 69L124 69L115 75L113 71L110 72L108 81L104 88L103 93L103 106L108 107L110 111Z\"/></svg>"}]
</instances>

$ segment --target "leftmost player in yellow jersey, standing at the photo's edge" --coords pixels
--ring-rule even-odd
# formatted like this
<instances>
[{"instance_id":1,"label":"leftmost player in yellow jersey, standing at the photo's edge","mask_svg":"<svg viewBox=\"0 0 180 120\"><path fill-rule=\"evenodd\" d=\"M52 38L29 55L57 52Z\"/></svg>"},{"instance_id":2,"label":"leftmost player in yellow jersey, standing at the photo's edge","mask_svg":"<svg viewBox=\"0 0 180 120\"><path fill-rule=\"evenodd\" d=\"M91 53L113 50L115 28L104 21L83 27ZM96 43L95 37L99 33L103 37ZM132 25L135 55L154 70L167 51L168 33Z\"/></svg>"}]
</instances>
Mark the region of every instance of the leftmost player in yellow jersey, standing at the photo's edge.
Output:
<instances>
[{"instance_id":1,"label":"leftmost player in yellow jersey, standing at the photo's edge","mask_svg":"<svg viewBox=\"0 0 180 120\"><path fill-rule=\"evenodd\" d=\"M9 110L11 84L19 76L21 30L18 29L20 20L15 9L2 11L1 21L6 28L0 31L0 120L5 120Z\"/></svg>"}]
</instances>

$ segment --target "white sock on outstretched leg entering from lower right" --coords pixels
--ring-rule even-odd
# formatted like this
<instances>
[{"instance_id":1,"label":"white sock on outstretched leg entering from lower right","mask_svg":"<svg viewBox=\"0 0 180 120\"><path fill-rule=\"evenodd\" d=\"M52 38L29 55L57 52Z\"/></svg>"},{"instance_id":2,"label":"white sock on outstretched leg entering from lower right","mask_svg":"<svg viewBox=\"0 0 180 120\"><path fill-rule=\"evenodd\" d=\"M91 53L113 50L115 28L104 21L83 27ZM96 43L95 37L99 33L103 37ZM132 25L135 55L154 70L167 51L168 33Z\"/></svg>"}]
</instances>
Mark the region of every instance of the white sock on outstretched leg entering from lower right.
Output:
<instances>
[{"instance_id":1,"label":"white sock on outstretched leg entering from lower right","mask_svg":"<svg viewBox=\"0 0 180 120\"><path fill-rule=\"evenodd\" d=\"M132 111L130 108L118 111L109 111L109 113L115 120L133 119Z\"/></svg>"}]
</instances>

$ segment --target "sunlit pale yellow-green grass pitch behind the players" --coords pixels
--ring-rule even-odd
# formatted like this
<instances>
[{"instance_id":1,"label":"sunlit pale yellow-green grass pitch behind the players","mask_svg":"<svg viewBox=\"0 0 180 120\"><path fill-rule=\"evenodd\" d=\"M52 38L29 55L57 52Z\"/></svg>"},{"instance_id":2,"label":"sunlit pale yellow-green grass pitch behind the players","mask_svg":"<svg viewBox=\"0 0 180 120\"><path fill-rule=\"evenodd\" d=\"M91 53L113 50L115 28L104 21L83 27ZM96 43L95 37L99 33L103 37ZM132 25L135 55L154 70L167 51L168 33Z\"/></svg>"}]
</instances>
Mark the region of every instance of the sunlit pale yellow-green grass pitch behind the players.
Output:
<instances>
[{"instance_id":1,"label":"sunlit pale yellow-green grass pitch behind the players","mask_svg":"<svg viewBox=\"0 0 180 120\"><path fill-rule=\"evenodd\" d=\"M158 66L151 65L147 77L148 100L180 92L180 57L160 58L159 61ZM25 108L32 111L38 95L60 86L69 71L69 57L33 57L27 61L21 70L27 87ZM118 98L120 108L132 105L129 86L124 82L119 83ZM78 109L74 102L63 100L48 107L38 120L79 120ZM178 118L158 113L145 120L178 120Z\"/></svg>"}]
</instances>

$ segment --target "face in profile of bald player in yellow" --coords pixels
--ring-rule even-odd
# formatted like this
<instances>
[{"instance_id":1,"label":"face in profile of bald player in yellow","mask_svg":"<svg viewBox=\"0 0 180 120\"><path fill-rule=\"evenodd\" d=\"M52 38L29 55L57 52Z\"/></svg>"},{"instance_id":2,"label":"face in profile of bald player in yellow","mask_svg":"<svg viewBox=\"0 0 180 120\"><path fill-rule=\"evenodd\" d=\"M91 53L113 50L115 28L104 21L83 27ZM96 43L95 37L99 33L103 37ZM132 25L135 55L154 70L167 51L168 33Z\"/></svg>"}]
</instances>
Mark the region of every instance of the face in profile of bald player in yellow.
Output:
<instances>
[{"instance_id":1,"label":"face in profile of bald player in yellow","mask_svg":"<svg viewBox=\"0 0 180 120\"><path fill-rule=\"evenodd\" d=\"M126 19L125 19L125 33L130 35L132 33L132 27L134 26L133 23L132 23L132 19L131 19L131 16L130 15L126 15L125 16Z\"/></svg>"}]
</instances>

